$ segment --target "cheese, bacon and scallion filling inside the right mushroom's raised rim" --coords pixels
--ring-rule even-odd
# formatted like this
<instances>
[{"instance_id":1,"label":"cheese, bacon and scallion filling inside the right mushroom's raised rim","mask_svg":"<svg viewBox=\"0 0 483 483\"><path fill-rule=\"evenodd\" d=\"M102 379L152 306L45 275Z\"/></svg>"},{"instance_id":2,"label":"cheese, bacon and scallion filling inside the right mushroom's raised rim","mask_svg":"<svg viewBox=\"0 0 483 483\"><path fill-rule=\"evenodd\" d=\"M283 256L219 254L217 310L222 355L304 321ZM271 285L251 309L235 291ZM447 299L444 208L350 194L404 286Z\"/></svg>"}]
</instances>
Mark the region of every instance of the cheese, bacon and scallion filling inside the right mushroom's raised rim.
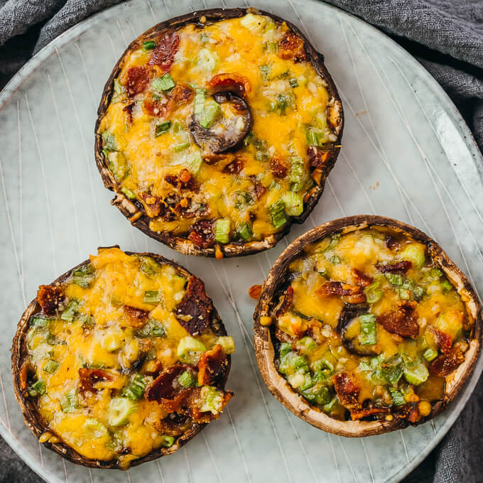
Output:
<instances>
[{"instance_id":1,"label":"cheese, bacon and scallion filling inside the right mushroom's raised rim","mask_svg":"<svg viewBox=\"0 0 483 483\"><path fill-rule=\"evenodd\" d=\"M383 273L400 262L410 268ZM388 229L335 234L307 246L288 277L274 336L276 365L295 391L342 420L416 423L430 414L462 362L472 320L424 244ZM337 283L359 295L327 294ZM288 291L290 306L277 314Z\"/></svg>"}]
</instances>

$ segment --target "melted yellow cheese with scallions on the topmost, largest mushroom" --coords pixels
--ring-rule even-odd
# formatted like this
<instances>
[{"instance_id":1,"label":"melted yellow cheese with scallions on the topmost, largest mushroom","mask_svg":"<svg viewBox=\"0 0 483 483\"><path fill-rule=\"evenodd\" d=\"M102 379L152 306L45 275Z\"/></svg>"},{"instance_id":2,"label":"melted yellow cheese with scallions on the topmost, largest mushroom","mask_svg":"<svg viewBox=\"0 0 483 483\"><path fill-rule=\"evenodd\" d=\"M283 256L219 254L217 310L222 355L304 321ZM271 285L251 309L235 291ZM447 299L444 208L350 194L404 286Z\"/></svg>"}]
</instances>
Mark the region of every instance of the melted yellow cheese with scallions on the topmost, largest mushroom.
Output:
<instances>
[{"instance_id":1,"label":"melted yellow cheese with scallions on the topmost, largest mushroom","mask_svg":"<svg viewBox=\"0 0 483 483\"><path fill-rule=\"evenodd\" d=\"M276 24L252 13L202 28L192 24L180 28L169 76L173 85L190 86L197 94L188 104L176 104L165 115L143 109L146 99L154 98L161 106L168 102L170 89L156 91L156 82L134 98L126 96L129 69L148 65L153 51L139 45L138 50L126 55L114 81L116 94L99 126L104 154L119 191L141 202L141 193L166 200L174 192L178 201L183 197L188 200L192 212L183 215L175 208L175 215L169 213L168 217L148 213L153 232L185 237L200 219L222 219L226 220L223 227L214 228L217 243L260 240L303 212L305 195L315 184L310 177L307 148L330 146L337 140L330 121L327 123L334 99L330 99L325 80L308 60L281 55L279 44L288 32L285 23ZM156 80L163 76L157 65L151 68L156 70ZM248 85L244 99L253 125L237 151L218 156L214 163L200 152L189 125L197 115L199 92L206 98L204 105L213 102L209 83L219 74L244 77ZM126 106L133 103L130 118ZM334 115L329 114L329 118ZM169 124L160 127L166 121ZM157 135L162 129L165 131ZM224 172L224 167L236 159L243 160L241 172ZM271 170L276 160L286 167L281 177ZM173 189L165 181L166 175L179 175L186 168L199 188L195 192ZM256 185L262 188L255 190ZM170 210L173 212L173 205Z\"/></svg>"}]
</instances>

